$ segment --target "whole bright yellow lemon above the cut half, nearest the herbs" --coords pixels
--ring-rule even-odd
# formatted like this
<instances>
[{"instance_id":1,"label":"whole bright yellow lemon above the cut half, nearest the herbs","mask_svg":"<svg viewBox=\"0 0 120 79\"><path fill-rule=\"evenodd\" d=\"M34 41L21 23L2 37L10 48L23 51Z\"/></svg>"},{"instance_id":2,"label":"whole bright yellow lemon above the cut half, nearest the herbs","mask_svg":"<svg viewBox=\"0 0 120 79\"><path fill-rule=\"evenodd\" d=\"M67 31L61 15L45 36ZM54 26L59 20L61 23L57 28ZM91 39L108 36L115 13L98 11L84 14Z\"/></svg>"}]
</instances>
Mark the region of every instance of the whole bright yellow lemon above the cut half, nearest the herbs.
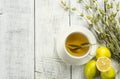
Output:
<instances>
[{"instance_id":1,"label":"whole bright yellow lemon above the cut half, nearest the herbs","mask_svg":"<svg viewBox=\"0 0 120 79\"><path fill-rule=\"evenodd\" d=\"M105 46L100 46L96 49L96 58L106 56L108 58L111 58L111 52L110 50Z\"/></svg>"}]
</instances>

